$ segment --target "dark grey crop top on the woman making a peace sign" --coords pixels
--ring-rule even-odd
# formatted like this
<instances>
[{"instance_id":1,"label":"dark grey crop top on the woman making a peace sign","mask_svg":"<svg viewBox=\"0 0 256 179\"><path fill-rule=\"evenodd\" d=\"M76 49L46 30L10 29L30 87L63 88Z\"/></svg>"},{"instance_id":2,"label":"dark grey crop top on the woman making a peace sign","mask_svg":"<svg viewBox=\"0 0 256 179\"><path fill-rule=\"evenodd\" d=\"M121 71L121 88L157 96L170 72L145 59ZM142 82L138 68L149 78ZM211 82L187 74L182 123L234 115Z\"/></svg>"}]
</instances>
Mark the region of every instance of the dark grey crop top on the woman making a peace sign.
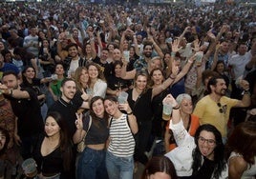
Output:
<instances>
[{"instance_id":1,"label":"dark grey crop top on the woman making a peace sign","mask_svg":"<svg viewBox=\"0 0 256 179\"><path fill-rule=\"evenodd\" d=\"M86 145L96 145L104 144L109 137L108 121L100 118L92 118L91 128L88 130L88 133L85 137ZM84 130L87 131L88 127L85 127Z\"/></svg>"}]
</instances>

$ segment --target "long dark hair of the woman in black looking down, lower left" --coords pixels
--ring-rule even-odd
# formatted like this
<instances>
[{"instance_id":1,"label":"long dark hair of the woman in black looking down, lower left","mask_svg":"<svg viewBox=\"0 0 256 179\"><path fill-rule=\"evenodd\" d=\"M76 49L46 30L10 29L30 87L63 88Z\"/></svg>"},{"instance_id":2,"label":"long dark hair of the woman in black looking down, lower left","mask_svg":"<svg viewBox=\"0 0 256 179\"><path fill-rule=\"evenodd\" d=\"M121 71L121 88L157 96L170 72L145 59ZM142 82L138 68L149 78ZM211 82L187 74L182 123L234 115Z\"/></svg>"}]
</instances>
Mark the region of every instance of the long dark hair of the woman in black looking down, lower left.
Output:
<instances>
[{"instance_id":1,"label":"long dark hair of the woman in black looking down, lower left","mask_svg":"<svg viewBox=\"0 0 256 179\"><path fill-rule=\"evenodd\" d=\"M73 143L68 133L68 126L66 121L62 118L61 114L57 111L51 111L48 113L47 117L53 117L57 125L60 128L60 138L59 138L59 148L62 152L63 157L63 169L69 171L72 169L73 163ZM47 118L46 117L46 118ZM48 137L46 135L46 137Z\"/></svg>"}]
</instances>

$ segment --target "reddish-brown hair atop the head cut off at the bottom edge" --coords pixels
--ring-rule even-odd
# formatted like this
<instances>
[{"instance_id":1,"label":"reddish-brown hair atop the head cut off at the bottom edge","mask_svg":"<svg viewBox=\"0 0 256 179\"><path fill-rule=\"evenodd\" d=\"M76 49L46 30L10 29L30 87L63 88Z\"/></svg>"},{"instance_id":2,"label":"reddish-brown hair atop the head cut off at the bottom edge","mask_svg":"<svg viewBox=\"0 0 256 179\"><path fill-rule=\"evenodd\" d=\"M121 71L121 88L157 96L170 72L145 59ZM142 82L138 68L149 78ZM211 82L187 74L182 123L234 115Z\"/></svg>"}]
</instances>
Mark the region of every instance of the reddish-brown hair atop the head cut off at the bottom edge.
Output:
<instances>
[{"instance_id":1,"label":"reddish-brown hair atop the head cut off at the bottom edge","mask_svg":"<svg viewBox=\"0 0 256 179\"><path fill-rule=\"evenodd\" d=\"M147 179L148 176L155 174L156 172L165 172L171 177L171 179L178 179L173 163L165 156L152 157L152 159L147 163L141 179Z\"/></svg>"}]
</instances>

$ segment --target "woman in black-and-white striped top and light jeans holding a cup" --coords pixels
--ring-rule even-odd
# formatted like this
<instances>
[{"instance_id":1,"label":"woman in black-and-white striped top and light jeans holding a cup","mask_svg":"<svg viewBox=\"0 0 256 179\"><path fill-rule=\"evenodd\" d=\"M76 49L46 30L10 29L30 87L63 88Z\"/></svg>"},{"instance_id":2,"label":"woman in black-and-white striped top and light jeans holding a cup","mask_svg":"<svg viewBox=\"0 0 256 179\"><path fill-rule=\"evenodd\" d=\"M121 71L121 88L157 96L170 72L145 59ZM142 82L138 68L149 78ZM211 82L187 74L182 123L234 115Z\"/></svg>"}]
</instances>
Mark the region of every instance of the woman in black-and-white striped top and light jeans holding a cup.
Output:
<instances>
[{"instance_id":1,"label":"woman in black-and-white striped top and light jeans holding a cup","mask_svg":"<svg viewBox=\"0 0 256 179\"><path fill-rule=\"evenodd\" d=\"M110 143L106 154L106 167L109 178L132 179L135 149L133 134L138 132L136 117L128 103L119 104L117 97L106 97L104 106L107 113L111 116L109 124ZM121 111L125 111L127 114Z\"/></svg>"}]
</instances>

